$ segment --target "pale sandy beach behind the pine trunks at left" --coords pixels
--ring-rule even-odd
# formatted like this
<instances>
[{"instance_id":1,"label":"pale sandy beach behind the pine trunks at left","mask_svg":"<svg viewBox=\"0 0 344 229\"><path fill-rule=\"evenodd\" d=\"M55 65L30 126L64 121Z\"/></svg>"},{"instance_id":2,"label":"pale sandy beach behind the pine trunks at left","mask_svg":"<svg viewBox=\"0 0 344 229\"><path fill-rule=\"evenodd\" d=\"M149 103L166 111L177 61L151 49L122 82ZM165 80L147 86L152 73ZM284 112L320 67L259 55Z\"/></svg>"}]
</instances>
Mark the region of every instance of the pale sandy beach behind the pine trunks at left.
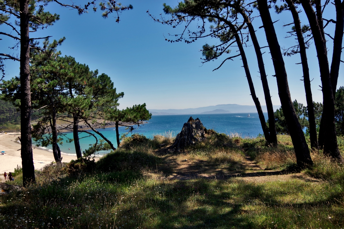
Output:
<instances>
[{"instance_id":1,"label":"pale sandy beach behind the pine trunks at left","mask_svg":"<svg viewBox=\"0 0 344 229\"><path fill-rule=\"evenodd\" d=\"M17 168L17 165L21 166L21 157L20 157L20 142L18 142L20 133L3 133L0 134L0 152L5 151L3 155L0 153L0 179L1 182L4 181L3 173L13 172L14 168ZM63 154L62 162L69 162L76 159L75 156ZM40 170L45 165L54 161L53 152L34 148L33 149L33 163L35 170Z\"/></svg>"}]
</instances>

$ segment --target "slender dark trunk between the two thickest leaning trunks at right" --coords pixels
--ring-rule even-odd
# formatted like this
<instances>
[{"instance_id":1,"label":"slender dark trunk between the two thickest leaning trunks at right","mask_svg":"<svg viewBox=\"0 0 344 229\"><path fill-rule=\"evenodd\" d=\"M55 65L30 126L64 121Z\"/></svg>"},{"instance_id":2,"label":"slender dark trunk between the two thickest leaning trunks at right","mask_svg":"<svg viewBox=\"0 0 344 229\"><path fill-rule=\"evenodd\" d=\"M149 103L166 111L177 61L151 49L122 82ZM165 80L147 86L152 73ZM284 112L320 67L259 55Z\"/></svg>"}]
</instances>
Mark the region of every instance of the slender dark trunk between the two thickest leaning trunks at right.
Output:
<instances>
[{"instance_id":1,"label":"slender dark trunk between the two thickest leaning trunks at right","mask_svg":"<svg viewBox=\"0 0 344 229\"><path fill-rule=\"evenodd\" d=\"M289 10L293 15L294 25L296 35L298 37L299 47L300 47L300 56L301 56L301 64L302 64L302 71L303 71L303 83L304 89L306 92L306 101L307 101L307 110L308 110L308 121L309 121L309 135L311 140L311 148L318 149L318 133L316 132L316 124L315 124L315 116L314 116L314 104L312 98L312 90L311 90L311 80L309 78L309 68L308 68L308 60L306 54L306 46L304 44L304 39L301 30L301 22L299 18L299 13L295 8L293 1L286 0L289 6Z\"/></svg>"}]
</instances>

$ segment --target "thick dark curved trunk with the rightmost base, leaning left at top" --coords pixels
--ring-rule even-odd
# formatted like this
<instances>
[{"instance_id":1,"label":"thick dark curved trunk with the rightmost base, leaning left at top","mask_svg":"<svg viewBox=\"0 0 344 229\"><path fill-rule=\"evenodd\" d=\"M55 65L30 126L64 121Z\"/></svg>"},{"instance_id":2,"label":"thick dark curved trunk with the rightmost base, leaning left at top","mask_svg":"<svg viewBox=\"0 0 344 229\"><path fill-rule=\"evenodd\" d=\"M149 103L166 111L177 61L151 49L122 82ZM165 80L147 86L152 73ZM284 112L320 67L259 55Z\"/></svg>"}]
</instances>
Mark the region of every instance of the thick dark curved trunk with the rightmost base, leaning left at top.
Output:
<instances>
[{"instance_id":1,"label":"thick dark curved trunk with the rightmost base, leaning left at top","mask_svg":"<svg viewBox=\"0 0 344 229\"><path fill-rule=\"evenodd\" d=\"M334 96L330 78L329 61L327 59L327 49L322 35L323 31L321 31L321 25L318 24L318 20L311 3L308 0L301 0L301 4L307 15L313 34L316 53L318 54L324 107L321 118L321 121L323 122L323 126L321 126L321 128L324 130L324 153L343 162L343 158L337 144L334 117Z\"/></svg>"}]
</instances>

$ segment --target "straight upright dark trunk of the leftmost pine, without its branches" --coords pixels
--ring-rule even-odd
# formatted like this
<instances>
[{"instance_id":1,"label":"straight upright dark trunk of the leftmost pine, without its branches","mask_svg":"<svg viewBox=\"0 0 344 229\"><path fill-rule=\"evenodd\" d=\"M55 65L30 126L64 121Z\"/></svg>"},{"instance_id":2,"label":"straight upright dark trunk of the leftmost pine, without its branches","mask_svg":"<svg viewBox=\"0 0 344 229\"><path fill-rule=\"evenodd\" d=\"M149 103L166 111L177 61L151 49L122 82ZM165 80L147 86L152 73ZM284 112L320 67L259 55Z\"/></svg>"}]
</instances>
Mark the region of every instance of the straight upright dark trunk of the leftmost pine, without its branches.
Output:
<instances>
[{"instance_id":1,"label":"straight upright dark trunk of the leftmost pine, without its branches","mask_svg":"<svg viewBox=\"0 0 344 229\"><path fill-rule=\"evenodd\" d=\"M23 186L35 182L31 139L29 0L20 0L20 132Z\"/></svg>"}]
</instances>

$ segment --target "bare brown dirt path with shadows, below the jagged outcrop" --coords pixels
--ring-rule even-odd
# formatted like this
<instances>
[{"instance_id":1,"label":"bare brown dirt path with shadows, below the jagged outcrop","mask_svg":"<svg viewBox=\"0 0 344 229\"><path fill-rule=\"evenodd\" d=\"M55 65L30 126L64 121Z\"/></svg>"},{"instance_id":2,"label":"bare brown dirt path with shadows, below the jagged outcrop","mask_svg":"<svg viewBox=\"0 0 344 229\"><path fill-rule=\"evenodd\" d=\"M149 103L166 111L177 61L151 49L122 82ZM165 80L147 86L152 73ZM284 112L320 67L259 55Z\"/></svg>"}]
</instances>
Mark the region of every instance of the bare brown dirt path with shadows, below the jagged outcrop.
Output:
<instances>
[{"instance_id":1,"label":"bare brown dirt path with shadows, below the jagged outcrop","mask_svg":"<svg viewBox=\"0 0 344 229\"><path fill-rule=\"evenodd\" d=\"M161 150L160 150L161 151ZM245 155L241 162L221 164L202 157L187 154L169 154L162 156L164 163L157 166L163 179L190 180L205 179L240 179L249 182L287 181L302 179L309 182L320 180L309 177L304 173L285 174L278 170L264 170L250 156ZM148 175L148 173L147 173ZM153 175L151 173L151 175Z\"/></svg>"}]
</instances>

